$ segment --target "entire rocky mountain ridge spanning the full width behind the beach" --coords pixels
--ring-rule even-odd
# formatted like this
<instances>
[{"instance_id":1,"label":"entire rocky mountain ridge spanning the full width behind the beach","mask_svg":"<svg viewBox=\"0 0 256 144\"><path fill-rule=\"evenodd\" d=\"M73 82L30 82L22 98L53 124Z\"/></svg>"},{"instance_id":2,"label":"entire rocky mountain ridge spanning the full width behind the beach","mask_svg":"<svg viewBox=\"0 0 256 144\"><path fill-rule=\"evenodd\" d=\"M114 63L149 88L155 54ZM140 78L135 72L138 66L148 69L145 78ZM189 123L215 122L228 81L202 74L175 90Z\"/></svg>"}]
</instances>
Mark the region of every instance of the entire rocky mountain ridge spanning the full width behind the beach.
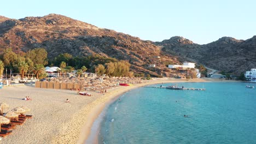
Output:
<instances>
[{"instance_id":1,"label":"entire rocky mountain ridge spanning the full width behind the beach","mask_svg":"<svg viewBox=\"0 0 256 144\"><path fill-rule=\"evenodd\" d=\"M11 47L18 53L43 47L50 59L65 52L73 56L99 54L127 60L143 70L156 63L156 56L161 56L162 64L193 59L214 69L239 74L256 67L255 41L256 36L247 40L222 37L200 45L175 36L153 42L58 14L19 20L0 16L0 51Z\"/></svg>"}]
</instances>

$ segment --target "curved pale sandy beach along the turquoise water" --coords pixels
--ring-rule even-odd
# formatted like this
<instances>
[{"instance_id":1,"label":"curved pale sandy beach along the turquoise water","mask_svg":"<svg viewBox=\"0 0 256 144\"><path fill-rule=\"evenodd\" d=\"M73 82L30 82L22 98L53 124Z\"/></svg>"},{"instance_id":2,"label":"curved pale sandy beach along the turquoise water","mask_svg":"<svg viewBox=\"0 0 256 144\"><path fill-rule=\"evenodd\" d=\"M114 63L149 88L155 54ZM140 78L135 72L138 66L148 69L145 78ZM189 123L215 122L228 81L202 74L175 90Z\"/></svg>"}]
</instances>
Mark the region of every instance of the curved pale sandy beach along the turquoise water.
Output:
<instances>
[{"instance_id":1,"label":"curved pale sandy beach along the turquoise water","mask_svg":"<svg viewBox=\"0 0 256 144\"><path fill-rule=\"evenodd\" d=\"M13 86L0 89L0 102L9 104L9 110L27 106L33 115L23 125L4 137L2 143L84 143L91 126L104 106L118 95L133 88L167 82L206 82L207 79L153 79L130 87L115 87L107 93L90 92L86 97L77 91ZM29 96L32 100L22 100ZM70 103L65 103L69 99ZM8 110L4 110L7 112Z\"/></svg>"}]
</instances>

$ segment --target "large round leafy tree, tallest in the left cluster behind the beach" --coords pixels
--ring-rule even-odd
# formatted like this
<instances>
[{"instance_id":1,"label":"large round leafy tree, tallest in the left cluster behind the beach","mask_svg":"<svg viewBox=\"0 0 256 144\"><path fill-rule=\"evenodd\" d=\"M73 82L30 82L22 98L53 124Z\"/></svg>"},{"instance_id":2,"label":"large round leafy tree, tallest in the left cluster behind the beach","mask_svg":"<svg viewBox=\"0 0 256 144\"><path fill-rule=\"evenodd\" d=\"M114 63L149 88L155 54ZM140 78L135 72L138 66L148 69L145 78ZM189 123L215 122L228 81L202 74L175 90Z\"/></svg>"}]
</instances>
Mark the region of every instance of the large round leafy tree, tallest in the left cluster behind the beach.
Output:
<instances>
[{"instance_id":1,"label":"large round leafy tree, tallest in the left cluster behind the beach","mask_svg":"<svg viewBox=\"0 0 256 144\"><path fill-rule=\"evenodd\" d=\"M48 64L48 59L47 59L47 52L43 48L37 48L33 50L29 50L26 53L26 57L30 58L34 64L43 64L46 65Z\"/></svg>"}]
</instances>

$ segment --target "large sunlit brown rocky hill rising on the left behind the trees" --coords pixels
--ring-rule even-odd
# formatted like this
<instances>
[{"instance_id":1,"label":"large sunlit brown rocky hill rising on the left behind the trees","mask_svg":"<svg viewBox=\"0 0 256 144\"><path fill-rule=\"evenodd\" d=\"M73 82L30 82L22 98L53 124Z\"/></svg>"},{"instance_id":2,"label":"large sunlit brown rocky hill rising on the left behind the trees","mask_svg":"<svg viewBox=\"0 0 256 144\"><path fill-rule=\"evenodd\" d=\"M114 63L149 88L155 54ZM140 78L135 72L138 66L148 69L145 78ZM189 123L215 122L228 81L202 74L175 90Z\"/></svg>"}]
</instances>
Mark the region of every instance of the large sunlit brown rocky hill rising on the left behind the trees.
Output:
<instances>
[{"instance_id":1,"label":"large sunlit brown rocky hill rising on the left behind the trees","mask_svg":"<svg viewBox=\"0 0 256 144\"><path fill-rule=\"evenodd\" d=\"M178 62L177 57L161 53L160 47L151 41L57 14L19 20L1 16L0 47L2 50L11 47L17 53L43 47L49 59L66 52L73 56L97 53L128 60L132 68L141 71L147 71L147 65L155 63L155 56L161 56L162 61Z\"/></svg>"}]
</instances>

